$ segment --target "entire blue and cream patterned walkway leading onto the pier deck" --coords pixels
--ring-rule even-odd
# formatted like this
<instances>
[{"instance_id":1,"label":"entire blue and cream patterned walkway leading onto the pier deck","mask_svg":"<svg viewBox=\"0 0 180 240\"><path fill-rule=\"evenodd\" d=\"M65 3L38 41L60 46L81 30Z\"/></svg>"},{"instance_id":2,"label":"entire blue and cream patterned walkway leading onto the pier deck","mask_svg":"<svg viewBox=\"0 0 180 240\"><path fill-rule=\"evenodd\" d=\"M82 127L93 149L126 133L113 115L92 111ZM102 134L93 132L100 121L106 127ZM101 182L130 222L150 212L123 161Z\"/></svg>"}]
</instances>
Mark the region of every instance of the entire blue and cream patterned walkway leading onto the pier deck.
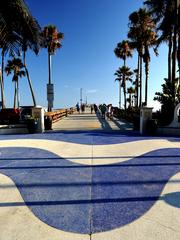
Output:
<instances>
[{"instance_id":1,"label":"entire blue and cream patterned walkway leading onto the pier deck","mask_svg":"<svg viewBox=\"0 0 180 240\"><path fill-rule=\"evenodd\" d=\"M0 240L180 239L179 138L82 118L0 135Z\"/></svg>"}]
</instances>

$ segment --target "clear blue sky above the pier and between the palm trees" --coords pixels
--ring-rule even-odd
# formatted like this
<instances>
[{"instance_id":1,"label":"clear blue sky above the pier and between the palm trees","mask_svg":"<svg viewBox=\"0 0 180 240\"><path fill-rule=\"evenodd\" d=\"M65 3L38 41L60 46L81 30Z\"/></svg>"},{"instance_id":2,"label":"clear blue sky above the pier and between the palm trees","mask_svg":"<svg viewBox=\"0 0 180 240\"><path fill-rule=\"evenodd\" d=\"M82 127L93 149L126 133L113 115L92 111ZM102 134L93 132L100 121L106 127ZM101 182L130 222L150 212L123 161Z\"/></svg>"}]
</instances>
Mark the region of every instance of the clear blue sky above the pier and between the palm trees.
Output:
<instances>
[{"instance_id":1,"label":"clear blue sky above the pier and between the palm trees","mask_svg":"<svg viewBox=\"0 0 180 240\"><path fill-rule=\"evenodd\" d=\"M142 0L26 0L41 27L55 25L64 33L62 48L52 59L52 81L55 88L54 108L75 106L83 89L88 103L112 103L118 106L118 82L114 72L122 66L115 57L117 43L127 38L128 16L143 6ZM154 93L161 91L167 76L167 47L151 54L148 105L157 108ZM47 50L38 56L28 52L27 64L38 105L47 107ZM137 56L127 60L137 67ZM6 79L7 107L13 106L11 77ZM20 79L20 105L32 105L26 78Z\"/></svg>"}]
</instances>

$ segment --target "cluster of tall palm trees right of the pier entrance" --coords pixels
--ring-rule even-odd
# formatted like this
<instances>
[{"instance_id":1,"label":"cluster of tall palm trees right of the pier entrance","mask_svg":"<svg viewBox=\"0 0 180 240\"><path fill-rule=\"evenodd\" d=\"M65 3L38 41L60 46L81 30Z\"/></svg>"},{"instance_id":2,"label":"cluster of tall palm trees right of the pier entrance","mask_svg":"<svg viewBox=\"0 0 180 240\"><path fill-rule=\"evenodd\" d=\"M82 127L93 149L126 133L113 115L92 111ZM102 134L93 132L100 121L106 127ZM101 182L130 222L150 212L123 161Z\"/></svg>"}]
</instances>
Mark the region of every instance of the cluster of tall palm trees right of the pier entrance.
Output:
<instances>
[{"instance_id":1,"label":"cluster of tall palm trees right of the pier entrance","mask_svg":"<svg viewBox=\"0 0 180 240\"><path fill-rule=\"evenodd\" d=\"M147 0L144 1L146 8L140 8L129 15L128 39L117 44L114 50L115 55L123 60L115 75L119 81L119 91L123 88L124 108L127 107L126 81L132 82L133 72L126 66L126 60L132 57L133 51L137 52L137 69L134 70L134 92L135 105L140 107L147 105L148 100L148 80L150 64L150 48L153 48L156 56L161 43L168 44L168 81L173 86L173 98L175 103L177 85L177 66L180 68L180 24L179 10L180 0ZM143 63L145 69L145 97L142 97L142 76ZM180 76L178 77L180 81ZM178 82L178 84L180 84ZM132 90L132 89L131 89ZM119 94L121 99L121 94ZM121 100L119 100L121 107Z\"/></svg>"}]
</instances>

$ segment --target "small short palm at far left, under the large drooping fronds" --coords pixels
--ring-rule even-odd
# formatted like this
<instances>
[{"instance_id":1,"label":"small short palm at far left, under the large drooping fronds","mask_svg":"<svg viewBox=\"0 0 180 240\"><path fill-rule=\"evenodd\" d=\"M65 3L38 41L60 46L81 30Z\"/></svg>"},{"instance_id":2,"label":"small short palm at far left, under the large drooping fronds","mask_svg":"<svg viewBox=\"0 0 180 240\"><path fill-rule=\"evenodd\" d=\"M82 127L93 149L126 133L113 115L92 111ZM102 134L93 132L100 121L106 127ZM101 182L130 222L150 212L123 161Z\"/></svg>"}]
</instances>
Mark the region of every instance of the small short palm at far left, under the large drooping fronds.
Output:
<instances>
[{"instance_id":1,"label":"small short palm at far left, under the large drooping fronds","mask_svg":"<svg viewBox=\"0 0 180 240\"><path fill-rule=\"evenodd\" d=\"M22 68L24 68L24 65L20 58L13 58L12 60L8 60L8 63L5 67L7 75L13 73L12 81L15 83L14 109L16 109L16 102L19 108L19 77L25 76L26 74Z\"/></svg>"}]
</instances>

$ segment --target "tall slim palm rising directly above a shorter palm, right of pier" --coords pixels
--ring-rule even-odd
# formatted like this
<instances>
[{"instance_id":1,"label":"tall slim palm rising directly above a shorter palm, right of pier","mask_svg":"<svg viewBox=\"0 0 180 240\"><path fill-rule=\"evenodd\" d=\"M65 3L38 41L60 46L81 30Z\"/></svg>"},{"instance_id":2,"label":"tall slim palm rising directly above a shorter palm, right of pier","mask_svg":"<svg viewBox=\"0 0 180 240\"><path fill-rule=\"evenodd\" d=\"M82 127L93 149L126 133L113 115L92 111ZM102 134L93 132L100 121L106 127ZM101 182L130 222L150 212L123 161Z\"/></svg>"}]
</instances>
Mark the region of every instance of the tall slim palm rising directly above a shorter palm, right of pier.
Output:
<instances>
[{"instance_id":1,"label":"tall slim palm rising directly above a shorter palm, right of pier","mask_svg":"<svg viewBox=\"0 0 180 240\"><path fill-rule=\"evenodd\" d=\"M124 68L126 67L126 59L132 57L132 49L130 48L129 41L123 40L117 44L117 47L114 49L115 55L122 59L124 62ZM125 75L123 75L123 82L125 83ZM125 98L124 107L126 109L126 98Z\"/></svg>"}]
</instances>

